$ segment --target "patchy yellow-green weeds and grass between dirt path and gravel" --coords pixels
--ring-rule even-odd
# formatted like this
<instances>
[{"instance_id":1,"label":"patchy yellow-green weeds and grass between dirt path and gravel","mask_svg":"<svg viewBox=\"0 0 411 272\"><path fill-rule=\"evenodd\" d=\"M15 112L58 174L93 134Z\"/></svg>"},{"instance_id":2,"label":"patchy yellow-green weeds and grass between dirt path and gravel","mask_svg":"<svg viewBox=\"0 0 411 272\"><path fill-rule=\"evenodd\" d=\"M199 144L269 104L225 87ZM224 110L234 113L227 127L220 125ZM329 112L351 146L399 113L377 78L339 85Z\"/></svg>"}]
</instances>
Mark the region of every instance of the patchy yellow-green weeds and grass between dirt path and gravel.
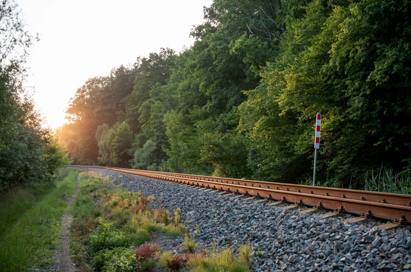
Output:
<instances>
[{"instance_id":1,"label":"patchy yellow-green weeds and grass between dirt path and gravel","mask_svg":"<svg viewBox=\"0 0 411 272\"><path fill-rule=\"evenodd\" d=\"M238 257L232 249L197 249L181 223L181 208L173 213L150 208L153 196L119 189L93 172L82 172L80 182L71 254L83 271L249 271L249 246L242 247ZM155 233L184 235L183 253L162 252L149 243Z\"/></svg>"}]
</instances>

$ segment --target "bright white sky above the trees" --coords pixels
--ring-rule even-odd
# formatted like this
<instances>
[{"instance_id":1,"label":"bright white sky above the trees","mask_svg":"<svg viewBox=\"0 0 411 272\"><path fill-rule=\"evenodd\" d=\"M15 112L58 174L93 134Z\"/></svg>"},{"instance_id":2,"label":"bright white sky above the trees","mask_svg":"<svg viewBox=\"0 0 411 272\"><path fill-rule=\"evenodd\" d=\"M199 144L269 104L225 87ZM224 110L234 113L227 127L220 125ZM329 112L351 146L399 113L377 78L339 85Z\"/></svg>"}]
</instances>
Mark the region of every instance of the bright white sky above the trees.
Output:
<instances>
[{"instance_id":1,"label":"bright white sky above the trees","mask_svg":"<svg viewBox=\"0 0 411 272\"><path fill-rule=\"evenodd\" d=\"M77 88L138 56L189 47L193 25L212 0L16 0L27 30L40 41L29 49L27 90L45 125L61 126Z\"/></svg>"}]
</instances>

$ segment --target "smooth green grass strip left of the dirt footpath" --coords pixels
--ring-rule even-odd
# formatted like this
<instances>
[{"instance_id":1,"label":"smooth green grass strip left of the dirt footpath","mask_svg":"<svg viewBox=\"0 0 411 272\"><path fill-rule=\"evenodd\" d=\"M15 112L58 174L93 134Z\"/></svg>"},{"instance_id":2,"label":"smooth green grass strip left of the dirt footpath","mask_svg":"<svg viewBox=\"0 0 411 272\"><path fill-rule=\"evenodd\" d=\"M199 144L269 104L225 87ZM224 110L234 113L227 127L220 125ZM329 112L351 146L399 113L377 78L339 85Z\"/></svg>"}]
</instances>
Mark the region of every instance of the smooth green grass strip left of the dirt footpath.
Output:
<instances>
[{"instance_id":1,"label":"smooth green grass strip left of the dirt footpath","mask_svg":"<svg viewBox=\"0 0 411 272\"><path fill-rule=\"evenodd\" d=\"M34 202L35 189L19 189L12 193L14 200L1 206L0 271L27 271L43 268L53 263L53 248L60 230L62 215L69 198L76 187L77 173L69 171L66 178L60 178L49 193L42 194L41 200ZM34 190L34 191L32 191ZM41 189L44 190L44 189ZM25 200L25 197L28 200ZM16 202L23 202L18 204ZM32 208L27 208L32 204ZM10 210L16 207L14 214ZM10 213L12 219L3 221Z\"/></svg>"}]
</instances>

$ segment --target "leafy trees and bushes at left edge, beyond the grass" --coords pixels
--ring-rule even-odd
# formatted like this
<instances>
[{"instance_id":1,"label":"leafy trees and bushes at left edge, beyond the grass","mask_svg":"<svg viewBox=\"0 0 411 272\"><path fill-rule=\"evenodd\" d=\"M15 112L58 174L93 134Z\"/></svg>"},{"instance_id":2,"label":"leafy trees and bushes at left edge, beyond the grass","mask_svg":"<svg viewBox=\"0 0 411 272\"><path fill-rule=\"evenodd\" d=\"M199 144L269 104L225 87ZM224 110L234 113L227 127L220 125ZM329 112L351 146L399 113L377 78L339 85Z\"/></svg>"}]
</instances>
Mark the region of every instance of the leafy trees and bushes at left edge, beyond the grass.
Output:
<instances>
[{"instance_id":1,"label":"leafy trees and bushes at left edge, beyond the grass","mask_svg":"<svg viewBox=\"0 0 411 272\"><path fill-rule=\"evenodd\" d=\"M42 128L22 82L26 50L34 39L14 1L0 3L0 193L16 185L45 180L69 158Z\"/></svg>"}]
</instances>

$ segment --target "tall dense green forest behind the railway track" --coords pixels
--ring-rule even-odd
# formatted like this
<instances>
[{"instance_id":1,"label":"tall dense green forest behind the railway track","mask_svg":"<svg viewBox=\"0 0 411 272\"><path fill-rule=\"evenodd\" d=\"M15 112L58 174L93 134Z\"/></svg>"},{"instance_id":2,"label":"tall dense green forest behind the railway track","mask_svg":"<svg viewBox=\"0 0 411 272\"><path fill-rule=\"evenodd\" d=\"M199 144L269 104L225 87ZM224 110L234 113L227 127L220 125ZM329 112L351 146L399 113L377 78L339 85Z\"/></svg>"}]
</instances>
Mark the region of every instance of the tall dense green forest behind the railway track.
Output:
<instances>
[{"instance_id":1,"label":"tall dense green forest behind the railway track","mask_svg":"<svg viewBox=\"0 0 411 272\"><path fill-rule=\"evenodd\" d=\"M319 112L321 185L409 177L410 10L409 0L214 0L188 49L79 87L60 141L74 164L304 182Z\"/></svg>"}]
</instances>

